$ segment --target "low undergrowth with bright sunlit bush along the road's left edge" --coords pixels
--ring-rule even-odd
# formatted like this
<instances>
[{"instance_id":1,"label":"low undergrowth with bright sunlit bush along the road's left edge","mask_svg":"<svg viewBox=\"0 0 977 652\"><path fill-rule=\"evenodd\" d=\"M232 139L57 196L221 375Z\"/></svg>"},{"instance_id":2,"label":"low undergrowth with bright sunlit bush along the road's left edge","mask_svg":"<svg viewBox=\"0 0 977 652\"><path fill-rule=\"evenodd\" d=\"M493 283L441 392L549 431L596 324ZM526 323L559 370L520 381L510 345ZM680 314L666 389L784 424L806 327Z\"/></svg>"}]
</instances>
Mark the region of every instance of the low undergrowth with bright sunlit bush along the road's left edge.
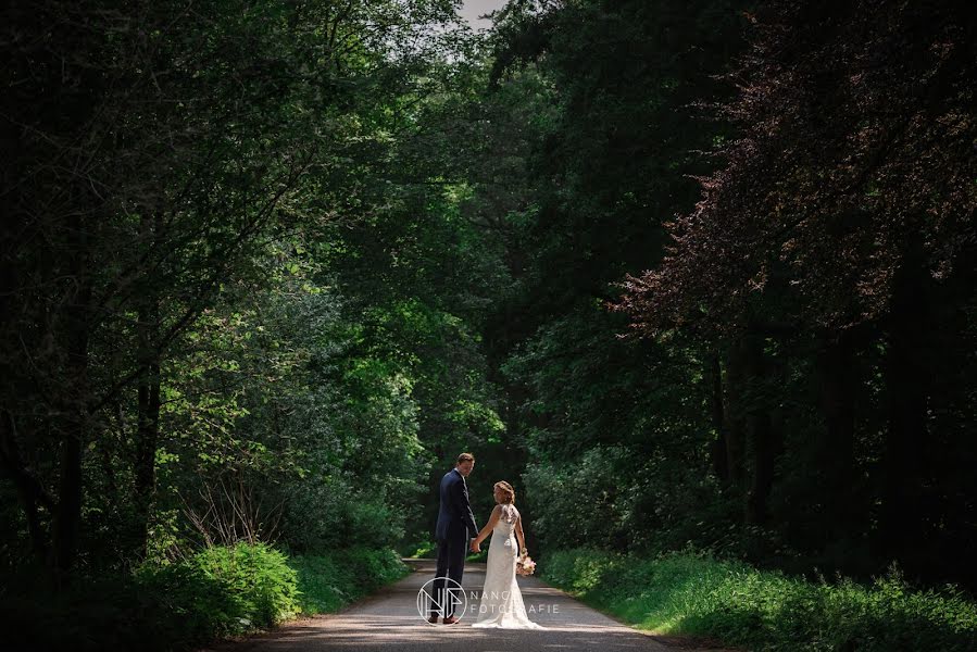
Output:
<instances>
[{"instance_id":1,"label":"low undergrowth with bright sunlit bush along the road's left edge","mask_svg":"<svg viewBox=\"0 0 977 652\"><path fill-rule=\"evenodd\" d=\"M0 617L9 650L186 650L295 617L331 612L399 579L392 550L296 556L265 544L202 550L135 575L75 578L61 591L22 568L3 578Z\"/></svg>"}]
</instances>

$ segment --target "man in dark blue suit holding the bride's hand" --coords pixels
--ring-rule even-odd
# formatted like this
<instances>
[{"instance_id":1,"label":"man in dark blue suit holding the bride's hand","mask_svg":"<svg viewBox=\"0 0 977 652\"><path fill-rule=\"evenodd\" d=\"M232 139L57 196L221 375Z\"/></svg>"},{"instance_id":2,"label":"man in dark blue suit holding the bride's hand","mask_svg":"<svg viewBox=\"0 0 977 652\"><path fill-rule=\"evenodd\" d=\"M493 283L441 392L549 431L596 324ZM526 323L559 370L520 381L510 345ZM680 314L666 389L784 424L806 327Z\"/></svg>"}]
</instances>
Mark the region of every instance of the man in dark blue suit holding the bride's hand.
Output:
<instances>
[{"instance_id":1,"label":"man in dark blue suit holding the bride's hand","mask_svg":"<svg viewBox=\"0 0 977 652\"><path fill-rule=\"evenodd\" d=\"M475 525L475 515L472 514L472 505L468 503L468 485L465 478L475 467L475 456L472 453L462 453L458 456L454 468L441 478L441 506L438 511L438 525L435 528L435 538L438 540L438 570L435 574L434 594L441 602L444 624L453 625L459 618L454 615L453 592L444 593L444 577L450 577L459 585L462 584L462 574L465 572L465 555L475 537L478 536L478 526ZM449 588L458 588L449 585ZM446 600L447 598L447 600ZM438 622L437 605L431 602L428 623Z\"/></svg>"}]
</instances>

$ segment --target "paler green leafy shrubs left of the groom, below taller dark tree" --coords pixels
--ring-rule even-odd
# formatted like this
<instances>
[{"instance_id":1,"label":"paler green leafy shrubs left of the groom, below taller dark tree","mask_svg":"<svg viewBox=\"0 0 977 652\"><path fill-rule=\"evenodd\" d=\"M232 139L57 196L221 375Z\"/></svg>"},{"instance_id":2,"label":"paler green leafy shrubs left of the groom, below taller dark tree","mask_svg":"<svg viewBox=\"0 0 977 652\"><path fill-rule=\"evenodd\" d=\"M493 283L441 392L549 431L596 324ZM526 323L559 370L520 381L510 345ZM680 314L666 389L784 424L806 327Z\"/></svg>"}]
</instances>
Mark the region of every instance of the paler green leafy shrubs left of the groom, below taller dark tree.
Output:
<instances>
[{"instance_id":1,"label":"paler green leafy shrubs left of the groom, below taller dark tree","mask_svg":"<svg viewBox=\"0 0 977 652\"><path fill-rule=\"evenodd\" d=\"M400 539L423 477L413 380L359 347L361 329L310 256L283 251L300 273L276 290L228 290L191 331L200 343L172 363L158 519L205 513L201 485L218 506L225 486L242 485L253 527L236 536L303 553ZM223 536L184 530L171 548Z\"/></svg>"}]
</instances>

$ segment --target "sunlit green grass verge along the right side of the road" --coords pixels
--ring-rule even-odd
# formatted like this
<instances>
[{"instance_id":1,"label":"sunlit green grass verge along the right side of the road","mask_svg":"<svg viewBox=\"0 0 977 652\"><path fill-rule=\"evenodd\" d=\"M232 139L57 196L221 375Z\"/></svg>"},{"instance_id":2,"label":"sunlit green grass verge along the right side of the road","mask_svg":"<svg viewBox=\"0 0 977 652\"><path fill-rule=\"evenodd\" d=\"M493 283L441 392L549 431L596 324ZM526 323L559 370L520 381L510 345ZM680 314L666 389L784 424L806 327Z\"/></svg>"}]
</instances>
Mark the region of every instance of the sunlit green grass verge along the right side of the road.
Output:
<instances>
[{"instance_id":1,"label":"sunlit green grass verge along the right side of the road","mask_svg":"<svg viewBox=\"0 0 977 652\"><path fill-rule=\"evenodd\" d=\"M543 555L540 576L640 629L749 650L977 650L977 605L952 586L914 589L894 567L869 585L812 582L707 553L578 549Z\"/></svg>"}]
</instances>

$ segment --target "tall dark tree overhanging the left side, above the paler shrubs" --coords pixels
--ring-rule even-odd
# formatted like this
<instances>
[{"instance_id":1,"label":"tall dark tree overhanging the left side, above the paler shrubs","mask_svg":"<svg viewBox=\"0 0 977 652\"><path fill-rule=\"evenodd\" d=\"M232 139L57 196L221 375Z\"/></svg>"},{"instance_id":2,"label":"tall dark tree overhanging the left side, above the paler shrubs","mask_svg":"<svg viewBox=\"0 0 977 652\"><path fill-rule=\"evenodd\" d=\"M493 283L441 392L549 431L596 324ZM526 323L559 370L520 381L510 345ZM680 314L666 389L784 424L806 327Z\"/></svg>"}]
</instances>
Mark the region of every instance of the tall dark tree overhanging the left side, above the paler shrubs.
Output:
<instances>
[{"instance_id":1,"label":"tall dark tree overhanging the left side, above the paler shrubs","mask_svg":"<svg viewBox=\"0 0 977 652\"><path fill-rule=\"evenodd\" d=\"M423 37L452 13L11 8L0 457L33 550L59 574L83 534L86 452L113 437L131 442L122 539L145 551L167 360L222 286L262 273L270 241L359 210L356 168L383 151L373 118L442 47Z\"/></svg>"}]
</instances>

